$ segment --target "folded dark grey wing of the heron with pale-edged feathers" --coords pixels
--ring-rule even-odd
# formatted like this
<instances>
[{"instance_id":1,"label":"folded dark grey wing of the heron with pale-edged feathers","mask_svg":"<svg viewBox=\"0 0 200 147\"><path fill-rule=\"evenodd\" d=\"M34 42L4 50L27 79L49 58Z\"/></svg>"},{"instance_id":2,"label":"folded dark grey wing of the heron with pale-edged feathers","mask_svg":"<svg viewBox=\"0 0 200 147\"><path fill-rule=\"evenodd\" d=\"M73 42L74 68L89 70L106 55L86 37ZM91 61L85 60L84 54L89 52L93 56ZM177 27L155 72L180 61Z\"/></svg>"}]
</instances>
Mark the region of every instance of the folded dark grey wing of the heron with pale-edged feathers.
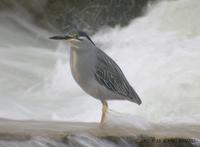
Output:
<instances>
[{"instance_id":1,"label":"folded dark grey wing of the heron with pale-edged feathers","mask_svg":"<svg viewBox=\"0 0 200 147\"><path fill-rule=\"evenodd\" d=\"M107 89L119 95L128 97L129 100L141 104L141 100L130 86L119 66L100 49L97 52L95 78Z\"/></svg>"}]
</instances>

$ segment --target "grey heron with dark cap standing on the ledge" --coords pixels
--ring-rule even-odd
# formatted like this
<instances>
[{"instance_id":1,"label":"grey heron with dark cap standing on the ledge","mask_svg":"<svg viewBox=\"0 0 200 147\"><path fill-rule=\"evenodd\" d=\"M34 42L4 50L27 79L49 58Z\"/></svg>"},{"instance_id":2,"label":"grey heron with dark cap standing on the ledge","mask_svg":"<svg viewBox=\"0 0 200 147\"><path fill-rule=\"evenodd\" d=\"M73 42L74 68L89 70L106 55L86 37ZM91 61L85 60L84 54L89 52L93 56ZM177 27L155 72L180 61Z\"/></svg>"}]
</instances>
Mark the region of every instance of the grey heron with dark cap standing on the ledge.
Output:
<instances>
[{"instance_id":1,"label":"grey heron with dark cap standing on the ledge","mask_svg":"<svg viewBox=\"0 0 200 147\"><path fill-rule=\"evenodd\" d=\"M108 100L128 100L138 105L140 97L120 67L83 31L50 37L70 46L70 68L74 80L90 96L102 103L101 122L105 123Z\"/></svg>"}]
</instances>

